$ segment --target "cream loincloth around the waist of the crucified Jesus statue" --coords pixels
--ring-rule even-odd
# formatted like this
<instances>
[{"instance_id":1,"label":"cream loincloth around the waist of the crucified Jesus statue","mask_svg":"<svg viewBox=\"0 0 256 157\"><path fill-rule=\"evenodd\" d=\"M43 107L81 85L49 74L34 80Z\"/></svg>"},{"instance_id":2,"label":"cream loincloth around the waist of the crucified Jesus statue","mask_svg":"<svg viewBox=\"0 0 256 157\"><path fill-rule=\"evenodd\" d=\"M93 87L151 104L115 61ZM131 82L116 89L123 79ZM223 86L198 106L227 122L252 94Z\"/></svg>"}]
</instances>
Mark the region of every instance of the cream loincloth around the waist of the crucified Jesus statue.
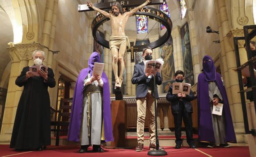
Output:
<instances>
[{"instance_id":1,"label":"cream loincloth around the waist of the crucified Jesus statue","mask_svg":"<svg viewBox=\"0 0 256 157\"><path fill-rule=\"evenodd\" d=\"M119 49L120 46L124 43L127 43L127 47L128 49L130 49L130 42L128 36L110 36L109 42L110 50L112 47Z\"/></svg>"}]
</instances>

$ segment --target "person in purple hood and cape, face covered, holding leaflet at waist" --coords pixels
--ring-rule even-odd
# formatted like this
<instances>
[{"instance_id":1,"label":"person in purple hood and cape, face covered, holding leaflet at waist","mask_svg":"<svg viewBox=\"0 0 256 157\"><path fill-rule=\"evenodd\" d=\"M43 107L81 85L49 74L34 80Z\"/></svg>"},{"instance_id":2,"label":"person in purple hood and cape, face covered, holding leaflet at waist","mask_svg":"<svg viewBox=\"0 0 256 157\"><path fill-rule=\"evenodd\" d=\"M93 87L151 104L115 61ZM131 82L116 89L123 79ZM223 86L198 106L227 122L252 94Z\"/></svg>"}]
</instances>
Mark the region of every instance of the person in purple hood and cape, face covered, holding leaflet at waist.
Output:
<instances>
[{"instance_id":1,"label":"person in purple hood and cape, face covered, holding leaflet at waist","mask_svg":"<svg viewBox=\"0 0 256 157\"><path fill-rule=\"evenodd\" d=\"M230 147L227 142L236 143L236 138L223 78L216 73L213 59L208 55L203 57L202 71L197 84L199 141L207 142L209 148ZM212 114L213 105L218 103L223 104L222 115Z\"/></svg>"}]
</instances>

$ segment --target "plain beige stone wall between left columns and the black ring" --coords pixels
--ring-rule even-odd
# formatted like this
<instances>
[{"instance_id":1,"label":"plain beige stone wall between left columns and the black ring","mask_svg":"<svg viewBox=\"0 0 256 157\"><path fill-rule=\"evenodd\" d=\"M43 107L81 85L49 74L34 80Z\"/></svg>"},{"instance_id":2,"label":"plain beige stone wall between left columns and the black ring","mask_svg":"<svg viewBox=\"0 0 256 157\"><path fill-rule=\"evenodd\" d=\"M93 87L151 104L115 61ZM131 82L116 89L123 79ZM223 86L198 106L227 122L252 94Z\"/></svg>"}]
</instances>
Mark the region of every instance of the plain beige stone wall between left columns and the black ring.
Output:
<instances>
[{"instance_id":1,"label":"plain beige stone wall between left columns and the black ring","mask_svg":"<svg viewBox=\"0 0 256 157\"><path fill-rule=\"evenodd\" d=\"M54 49L60 51L55 60L78 73L88 65L92 51L89 19L77 11L76 1L59 1Z\"/></svg>"}]
</instances>

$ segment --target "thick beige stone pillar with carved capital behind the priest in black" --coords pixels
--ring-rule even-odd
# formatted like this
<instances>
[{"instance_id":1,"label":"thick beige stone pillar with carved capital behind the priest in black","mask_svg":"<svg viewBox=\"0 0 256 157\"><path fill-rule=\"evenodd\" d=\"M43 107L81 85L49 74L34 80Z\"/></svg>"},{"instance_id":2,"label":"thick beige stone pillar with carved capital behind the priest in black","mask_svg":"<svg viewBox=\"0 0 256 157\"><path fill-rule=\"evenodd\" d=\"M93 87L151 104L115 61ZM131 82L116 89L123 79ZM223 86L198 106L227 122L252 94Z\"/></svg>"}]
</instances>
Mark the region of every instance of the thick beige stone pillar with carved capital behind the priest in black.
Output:
<instances>
[{"instance_id":1,"label":"thick beige stone pillar with carved capital behind the priest in black","mask_svg":"<svg viewBox=\"0 0 256 157\"><path fill-rule=\"evenodd\" d=\"M42 49L42 45L38 42L15 44L13 47L8 48L11 57L11 73L0 134L1 144L9 144L11 140L16 110L23 91L23 87L18 87L15 84L15 80L21 74L22 69L25 66L28 66L29 60L31 60L32 57L32 52L37 49Z\"/></svg>"}]
</instances>

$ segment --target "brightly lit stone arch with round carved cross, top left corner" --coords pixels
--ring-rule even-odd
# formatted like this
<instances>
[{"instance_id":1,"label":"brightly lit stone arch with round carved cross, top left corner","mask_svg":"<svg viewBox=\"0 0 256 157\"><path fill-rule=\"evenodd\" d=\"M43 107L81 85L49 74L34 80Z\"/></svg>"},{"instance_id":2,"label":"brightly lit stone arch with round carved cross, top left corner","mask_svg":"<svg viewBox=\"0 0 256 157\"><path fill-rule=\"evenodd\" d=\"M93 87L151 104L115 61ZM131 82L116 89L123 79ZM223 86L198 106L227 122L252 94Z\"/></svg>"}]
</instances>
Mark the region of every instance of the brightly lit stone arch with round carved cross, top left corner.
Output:
<instances>
[{"instance_id":1,"label":"brightly lit stone arch with round carved cross, top left corner","mask_svg":"<svg viewBox=\"0 0 256 157\"><path fill-rule=\"evenodd\" d=\"M14 44L38 42L39 15L35 0L1 1L13 28Z\"/></svg>"}]
</instances>

